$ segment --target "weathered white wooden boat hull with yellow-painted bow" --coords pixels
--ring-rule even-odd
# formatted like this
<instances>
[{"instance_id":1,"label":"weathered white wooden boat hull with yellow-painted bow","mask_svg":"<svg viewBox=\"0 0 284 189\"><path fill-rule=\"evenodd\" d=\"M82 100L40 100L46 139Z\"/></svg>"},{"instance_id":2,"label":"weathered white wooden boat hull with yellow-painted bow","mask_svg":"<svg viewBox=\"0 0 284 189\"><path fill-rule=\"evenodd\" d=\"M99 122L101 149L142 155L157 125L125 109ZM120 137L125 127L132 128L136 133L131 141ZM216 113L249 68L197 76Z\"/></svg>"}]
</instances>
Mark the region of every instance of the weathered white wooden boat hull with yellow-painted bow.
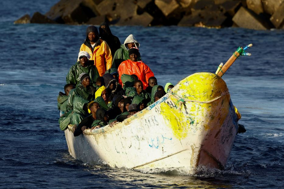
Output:
<instances>
[{"instance_id":1,"label":"weathered white wooden boat hull with yellow-painted bow","mask_svg":"<svg viewBox=\"0 0 284 189\"><path fill-rule=\"evenodd\" d=\"M226 83L212 73L195 73L141 112L114 127L65 130L69 153L91 164L129 169L200 165L223 169L238 131Z\"/></svg>"}]
</instances>

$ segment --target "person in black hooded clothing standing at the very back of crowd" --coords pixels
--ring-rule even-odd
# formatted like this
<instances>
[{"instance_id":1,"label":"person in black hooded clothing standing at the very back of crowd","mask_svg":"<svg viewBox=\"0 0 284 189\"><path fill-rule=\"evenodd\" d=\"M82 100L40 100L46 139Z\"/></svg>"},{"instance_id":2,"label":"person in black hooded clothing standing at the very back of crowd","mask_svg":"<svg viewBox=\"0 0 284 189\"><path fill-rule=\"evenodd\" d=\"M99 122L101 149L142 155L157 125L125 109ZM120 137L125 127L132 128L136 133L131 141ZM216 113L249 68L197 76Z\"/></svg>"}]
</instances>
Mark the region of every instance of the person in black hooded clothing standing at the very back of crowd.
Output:
<instances>
[{"instance_id":1,"label":"person in black hooded clothing standing at the very back of crowd","mask_svg":"<svg viewBox=\"0 0 284 189\"><path fill-rule=\"evenodd\" d=\"M110 47L111 54L114 56L114 53L117 49L120 48L120 40L117 36L112 35L110 31L110 27L108 26L107 22L103 22L99 27L100 32L100 39L107 42L108 46Z\"/></svg>"}]
</instances>

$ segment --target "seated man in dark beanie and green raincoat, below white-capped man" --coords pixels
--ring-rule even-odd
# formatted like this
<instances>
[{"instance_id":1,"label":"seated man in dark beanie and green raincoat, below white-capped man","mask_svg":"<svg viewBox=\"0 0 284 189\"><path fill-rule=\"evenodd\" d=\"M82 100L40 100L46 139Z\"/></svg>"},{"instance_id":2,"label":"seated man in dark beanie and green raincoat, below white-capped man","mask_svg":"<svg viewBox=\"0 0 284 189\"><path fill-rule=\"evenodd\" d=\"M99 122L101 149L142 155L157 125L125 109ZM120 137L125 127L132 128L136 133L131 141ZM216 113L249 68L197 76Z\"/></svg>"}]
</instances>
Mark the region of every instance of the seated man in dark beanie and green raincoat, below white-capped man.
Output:
<instances>
[{"instance_id":1,"label":"seated man in dark beanie and green raincoat, below white-capped man","mask_svg":"<svg viewBox=\"0 0 284 189\"><path fill-rule=\"evenodd\" d=\"M70 124L78 124L87 115L87 105L94 99L96 88L91 85L89 74L82 73L80 76L81 84L75 89L71 90L68 96L66 105L67 111L73 110L70 115Z\"/></svg>"}]
</instances>

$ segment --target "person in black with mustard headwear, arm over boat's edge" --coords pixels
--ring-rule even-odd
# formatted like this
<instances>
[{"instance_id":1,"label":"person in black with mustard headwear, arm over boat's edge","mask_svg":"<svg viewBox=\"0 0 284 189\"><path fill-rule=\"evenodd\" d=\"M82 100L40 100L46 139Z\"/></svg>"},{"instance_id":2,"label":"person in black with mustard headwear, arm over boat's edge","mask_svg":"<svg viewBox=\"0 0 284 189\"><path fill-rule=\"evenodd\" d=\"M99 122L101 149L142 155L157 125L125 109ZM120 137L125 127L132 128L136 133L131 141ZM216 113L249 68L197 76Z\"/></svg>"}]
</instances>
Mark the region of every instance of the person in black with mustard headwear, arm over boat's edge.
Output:
<instances>
[{"instance_id":1,"label":"person in black with mustard headwear, arm over boat's edge","mask_svg":"<svg viewBox=\"0 0 284 189\"><path fill-rule=\"evenodd\" d=\"M93 101L89 105L91 115L84 118L78 125L73 126L74 136L79 136L85 129L90 129L92 127L93 122L96 120L96 111L98 108L100 108L100 106L97 102Z\"/></svg>"}]
</instances>

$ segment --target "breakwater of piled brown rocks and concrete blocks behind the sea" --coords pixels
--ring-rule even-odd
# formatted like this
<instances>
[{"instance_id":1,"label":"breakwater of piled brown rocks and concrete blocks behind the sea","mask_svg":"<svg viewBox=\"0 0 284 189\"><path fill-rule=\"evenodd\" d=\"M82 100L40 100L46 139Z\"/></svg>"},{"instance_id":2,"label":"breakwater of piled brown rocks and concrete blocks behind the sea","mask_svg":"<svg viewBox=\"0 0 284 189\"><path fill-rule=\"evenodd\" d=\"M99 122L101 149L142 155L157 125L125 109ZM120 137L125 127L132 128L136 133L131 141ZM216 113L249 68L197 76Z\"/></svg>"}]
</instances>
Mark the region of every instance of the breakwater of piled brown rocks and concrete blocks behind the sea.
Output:
<instances>
[{"instance_id":1,"label":"breakwater of piled brown rocks and concrete blocks behind the sea","mask_svg":"<svg viewBox=\"0 0 284 189\"><path fill-rule=\"evenodd\" d=\"M59 23L284 29L284 0L61 0L15 24Z\"/></svg>"}]
</instances>

